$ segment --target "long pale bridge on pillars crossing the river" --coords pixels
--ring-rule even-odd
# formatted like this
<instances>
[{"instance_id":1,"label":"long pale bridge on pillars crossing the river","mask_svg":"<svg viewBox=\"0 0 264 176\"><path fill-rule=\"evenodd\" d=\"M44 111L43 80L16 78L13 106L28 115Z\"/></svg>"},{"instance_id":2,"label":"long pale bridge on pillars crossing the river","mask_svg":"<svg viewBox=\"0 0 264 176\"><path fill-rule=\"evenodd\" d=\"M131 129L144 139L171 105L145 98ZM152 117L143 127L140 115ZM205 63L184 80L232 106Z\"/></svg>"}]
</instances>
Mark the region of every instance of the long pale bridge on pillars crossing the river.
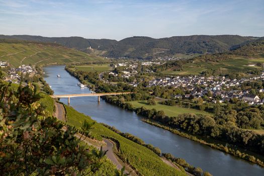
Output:
<instances>
[{"instance_id":1,"label":"long pale bridge on pillars crossing the river","mask_svg":"<svg viewBox=\"0 0 264 176\"><path fill-rule=\"evenodd\" d=\"M100 102L101 96L116 96L116 95L125 95L132 94L132 92L123 92L123 93L90 93L90 94L65 94L65 95L52 95L52 98L68 98L68 105L70 104L70 98L72 97L98 97L98 102Z\"/></svg>"}]
</instances>

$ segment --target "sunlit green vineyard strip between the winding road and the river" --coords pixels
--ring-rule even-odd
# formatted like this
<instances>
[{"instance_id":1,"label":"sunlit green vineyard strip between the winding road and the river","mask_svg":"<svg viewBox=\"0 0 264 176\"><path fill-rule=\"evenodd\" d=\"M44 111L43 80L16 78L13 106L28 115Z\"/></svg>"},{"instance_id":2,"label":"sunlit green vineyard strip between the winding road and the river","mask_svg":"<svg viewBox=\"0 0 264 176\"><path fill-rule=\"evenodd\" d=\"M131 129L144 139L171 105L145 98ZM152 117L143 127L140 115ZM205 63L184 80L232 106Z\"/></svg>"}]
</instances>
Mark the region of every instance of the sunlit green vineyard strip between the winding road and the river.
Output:
<instances>
[{"instance_id":1,"label":"sunlit green vineyard strip between the winding road and the river","mask_svg":"<svg viewBox=\"0 0 264 176\"><path fill-rule=\"evenodd\" d=\"M71 107L65 107L68 124L80 127L84 120L93 121L89 116L85 116ZM123 160L129 161L130 165L143 175L185 175L185 173L165 164L148 148L120 136L102 124L95 124L92 135L107 136L118 140L120 142L120 153Z\"/></svg>"}]
</instances>

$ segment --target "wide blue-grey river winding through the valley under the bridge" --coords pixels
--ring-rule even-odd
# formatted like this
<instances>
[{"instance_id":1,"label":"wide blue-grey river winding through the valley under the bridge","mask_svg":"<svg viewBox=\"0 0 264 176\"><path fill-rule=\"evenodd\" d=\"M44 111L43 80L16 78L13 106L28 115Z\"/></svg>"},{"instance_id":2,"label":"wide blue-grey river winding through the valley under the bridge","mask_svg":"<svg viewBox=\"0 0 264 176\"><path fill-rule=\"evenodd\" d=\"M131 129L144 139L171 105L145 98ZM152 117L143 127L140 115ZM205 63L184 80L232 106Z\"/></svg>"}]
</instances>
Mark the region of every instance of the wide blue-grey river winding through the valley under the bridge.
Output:
<instances>
[{"instance_id":1,"label":"wide blue-grey river winding through the valley under the bridge","mask_svg":"<svg viewBox=\"0 0 264 176\"><path fill-rule=\"evenodd\" d=\"M54 95L90 93L87 87L77 86L78 80L66 72L64 66L44 67L44 72L44 79L51 86ZM61 77L57 78L57 74ZM67 104L67 99L61 99L61 102ZM71 98L70 106L97 122L115 126L122 132L140 137L145 143L159 147L163 153L184 158L190 164L213 175L264 175L264 168L256 164L144 123L134 112L123 110L102 99L98 103L97 97Z\"/></svg>"}]
</instances>

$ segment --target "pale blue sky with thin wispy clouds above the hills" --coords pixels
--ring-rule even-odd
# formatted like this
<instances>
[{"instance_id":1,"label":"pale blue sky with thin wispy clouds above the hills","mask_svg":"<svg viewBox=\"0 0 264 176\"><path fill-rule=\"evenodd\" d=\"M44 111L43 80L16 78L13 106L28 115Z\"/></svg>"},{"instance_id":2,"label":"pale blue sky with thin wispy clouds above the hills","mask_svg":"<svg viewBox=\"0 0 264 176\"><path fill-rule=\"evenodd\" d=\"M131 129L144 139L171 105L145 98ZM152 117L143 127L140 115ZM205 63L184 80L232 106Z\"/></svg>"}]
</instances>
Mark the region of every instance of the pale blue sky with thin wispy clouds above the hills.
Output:
<instances>
[{"instance_id":1,"label":"pale blue sky with thin wispy clouds above the hills","mask_svg":"<svg viewBox=\"0 0 264 176\"><path fill-rule=\"evenodd\" d=\"M79 36L264 36L264 0L0 0L0 34Z\"/></svg>"}]
</instances>

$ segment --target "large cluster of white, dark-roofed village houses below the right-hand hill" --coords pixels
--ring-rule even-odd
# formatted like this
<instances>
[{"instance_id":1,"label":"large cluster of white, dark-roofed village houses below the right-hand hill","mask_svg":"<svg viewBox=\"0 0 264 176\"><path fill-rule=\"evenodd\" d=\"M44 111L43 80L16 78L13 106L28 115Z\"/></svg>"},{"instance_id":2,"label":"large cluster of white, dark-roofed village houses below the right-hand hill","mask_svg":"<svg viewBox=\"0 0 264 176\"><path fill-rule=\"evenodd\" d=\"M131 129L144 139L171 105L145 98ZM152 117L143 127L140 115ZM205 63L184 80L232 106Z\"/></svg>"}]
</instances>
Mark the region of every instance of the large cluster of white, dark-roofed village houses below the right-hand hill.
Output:
<instances>
[{"instance_id":1,"label":"large cluster of white, dark-roofed village houses below the right-hand hill","mask_svg":"<svg viewBox=\"0 0 264 176\"><path fill-rule=\"evenodd\" d=\"M186 98L203 98L205 95L208 95L208 92L211 93L211 97L208 97L209 100L213 103L223 103L229 101L230 99L241 99L244 102L247 102L249 105L254 104L263 104L264 100L256 95L250 94L248 90L241 91L233 89L233 87L240 87L241 84L245 81L253 80L264 80L264 71L259 76L251 78L242 78L242 79L230 79L225 76L177 76L177 77L164 77L157 78L149 81L148 86L172 86L174 88L182 87L189 94L185 95L173 95L175 99ZM231 89L229 89L231 88ZM229 91L226 91L229 90ZM258 93L263 93L264 89L256 90Z\"/></svg>"}]
</instances>

